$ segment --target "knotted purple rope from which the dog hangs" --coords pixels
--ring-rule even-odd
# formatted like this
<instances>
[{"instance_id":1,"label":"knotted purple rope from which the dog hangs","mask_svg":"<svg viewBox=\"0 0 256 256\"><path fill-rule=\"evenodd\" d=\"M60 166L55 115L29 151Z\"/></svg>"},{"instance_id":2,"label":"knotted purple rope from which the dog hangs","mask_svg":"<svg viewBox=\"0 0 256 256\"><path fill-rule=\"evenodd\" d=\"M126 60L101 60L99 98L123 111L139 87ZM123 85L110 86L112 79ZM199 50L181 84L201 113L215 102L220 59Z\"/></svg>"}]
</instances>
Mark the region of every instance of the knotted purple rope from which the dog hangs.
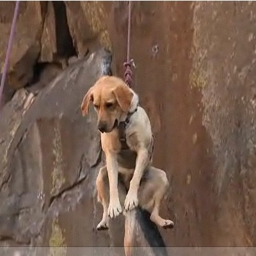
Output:
<instances>
[{"instance_id":1,"label":"knotted purple rope from which the dog hangs","mask_svg":"<svg viewBox=\"0 0 256 256\"><path fill-rule=\"evenodd\" d=\"M132 86L132 69L131 65L134 66L134 61L130 60L130 48L131 48L131 1L129 1L129 11L128 11L128 31L127 31L127 57L124 63L124 81L131 88Z\"/></svg>"}]
</instances>

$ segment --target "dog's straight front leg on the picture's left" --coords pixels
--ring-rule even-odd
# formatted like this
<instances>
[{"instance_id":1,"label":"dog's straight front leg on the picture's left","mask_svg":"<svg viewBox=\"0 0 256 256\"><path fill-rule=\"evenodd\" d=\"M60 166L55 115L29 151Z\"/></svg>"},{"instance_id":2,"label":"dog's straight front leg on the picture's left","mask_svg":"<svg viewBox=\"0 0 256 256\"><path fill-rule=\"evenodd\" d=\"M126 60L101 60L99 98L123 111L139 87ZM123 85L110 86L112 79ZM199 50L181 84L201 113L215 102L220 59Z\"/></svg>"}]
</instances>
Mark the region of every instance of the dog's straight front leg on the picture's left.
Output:
<instances>
[{"instance_id":1,"label":"dog's straight front leg on the picture's left","mask_svg":"<svg viewBox=\"0 0 256 256\"><path fill-rule=\"evenodd\" d=\"M109 179L109 218L115 218L122 212L118 196L118 162L116 154L106 154L108 179Z\"/></svg>"}]
</instances>

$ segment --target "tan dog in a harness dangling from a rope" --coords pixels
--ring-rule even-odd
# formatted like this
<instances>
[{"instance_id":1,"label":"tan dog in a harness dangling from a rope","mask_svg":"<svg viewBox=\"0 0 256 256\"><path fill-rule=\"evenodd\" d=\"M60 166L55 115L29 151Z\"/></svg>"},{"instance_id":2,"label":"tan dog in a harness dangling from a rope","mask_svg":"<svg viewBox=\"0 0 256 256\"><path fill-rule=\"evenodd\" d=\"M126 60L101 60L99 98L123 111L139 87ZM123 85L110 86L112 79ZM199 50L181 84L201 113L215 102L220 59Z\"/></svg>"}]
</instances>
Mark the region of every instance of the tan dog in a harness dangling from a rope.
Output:
<instances>
[{"instance_id":1,"label":"tan dog in a harness dangling from a rope","mask_svg":"<svg viewBox=\"0 0 256 256\"><path fill-rule=\"evenodd\" d=\"M138 95L122 79L104 76L84 96L83 115L88 113L90 101L98 114L97 127L106 154L106 166L100 168L97 177L98 198L104 209L97 229L108 229L109 218L122 212L120 198L124 199L125 189L128 190L125 211L140 204L151 213L150 220L161 227L172 228L173 221L159 216L168 179L163 170L151 166L154 138L148 116L138 106ZM118 175L122 182L118 182Z\"/></svg>"}]
</instances>

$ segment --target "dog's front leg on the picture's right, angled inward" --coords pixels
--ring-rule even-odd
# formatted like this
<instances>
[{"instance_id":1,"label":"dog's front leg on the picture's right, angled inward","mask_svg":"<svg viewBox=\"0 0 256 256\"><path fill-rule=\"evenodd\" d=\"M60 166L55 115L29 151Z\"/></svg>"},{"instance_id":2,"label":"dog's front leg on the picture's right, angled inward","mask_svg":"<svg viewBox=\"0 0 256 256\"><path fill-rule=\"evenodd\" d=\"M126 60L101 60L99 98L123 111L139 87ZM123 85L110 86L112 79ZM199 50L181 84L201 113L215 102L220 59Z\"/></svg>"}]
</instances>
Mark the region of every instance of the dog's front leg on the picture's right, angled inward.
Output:
<instances>
[{"instance_id":1,"label":"dog's front leg on the picture's right, angled inward","mask_svg":"<svg viewBox=\"0 0 256 256\"><path fill-rule=\"evenodd\" d=\"M140 148L137 151L134 174L124 202L125 211L131 211L134 207L138 206L138 189L140 187L141 177L143 176L145 168L147 167L148 159L149 154L147 148Z\"/></svg>"}]
</instances>

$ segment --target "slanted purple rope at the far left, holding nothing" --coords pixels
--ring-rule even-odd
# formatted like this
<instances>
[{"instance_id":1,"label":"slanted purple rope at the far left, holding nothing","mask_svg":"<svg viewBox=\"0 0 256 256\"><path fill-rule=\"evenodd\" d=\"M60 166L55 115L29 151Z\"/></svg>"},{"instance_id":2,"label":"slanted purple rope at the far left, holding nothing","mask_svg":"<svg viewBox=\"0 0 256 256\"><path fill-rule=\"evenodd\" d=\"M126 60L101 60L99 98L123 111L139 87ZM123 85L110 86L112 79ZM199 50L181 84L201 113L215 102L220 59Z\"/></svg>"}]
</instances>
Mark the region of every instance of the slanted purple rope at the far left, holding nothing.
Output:
<instances>
[{"instance_id":1,"label":"slanted purple rope at the far left, holding nothing","mask_svg":"<svg viewBox=\"0 0 256 256\"><path fill-rule=\"evenodd\" d=\"M3 74L2 74L2 78L1 78L1 84L0 84L0 106L1 106L1 99L2 99L2 95L3 95L4 82L5 82L5 78L6 78L6 74L7 74L8 62L10 60L10 55L11 55L15 25L16 25L18 13L19 13L19 2L20 1L16 1L13 20L12 20L12 28L11 28L8 47L7 47L6 56L5 56L5 60L4 60L4 68L3 68Z\"/></svg>"}]
</instances>

